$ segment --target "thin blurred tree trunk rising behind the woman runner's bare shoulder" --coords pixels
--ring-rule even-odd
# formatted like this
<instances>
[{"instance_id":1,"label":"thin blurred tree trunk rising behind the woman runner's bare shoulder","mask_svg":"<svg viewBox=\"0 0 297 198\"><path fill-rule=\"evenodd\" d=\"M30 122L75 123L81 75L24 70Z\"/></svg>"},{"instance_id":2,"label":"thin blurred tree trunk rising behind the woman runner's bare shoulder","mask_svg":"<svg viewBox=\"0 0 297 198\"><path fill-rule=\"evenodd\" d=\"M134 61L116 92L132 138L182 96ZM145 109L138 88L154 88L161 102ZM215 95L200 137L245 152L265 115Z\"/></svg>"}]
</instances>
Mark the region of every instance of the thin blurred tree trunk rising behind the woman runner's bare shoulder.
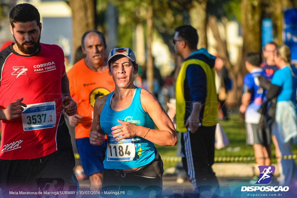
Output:
<instances>
[{"instance_id":1,"label":"thin blurred tree trunk rising behind the woman runner's bare shoulder","mask_svg":"<svg viewBox=\"0 0 297 198\"><path fill-rule=\"evenodd\" d=\"M153 81L154 81L154 63L151 53L151 43L152 43L152 29L153 29L153 4L152 1L149 1L148 11L146 14L146 23L147 23L147 62L146 62L146 79L148 82L148 91L153 92Z\"/></svg>"}]
</instances>

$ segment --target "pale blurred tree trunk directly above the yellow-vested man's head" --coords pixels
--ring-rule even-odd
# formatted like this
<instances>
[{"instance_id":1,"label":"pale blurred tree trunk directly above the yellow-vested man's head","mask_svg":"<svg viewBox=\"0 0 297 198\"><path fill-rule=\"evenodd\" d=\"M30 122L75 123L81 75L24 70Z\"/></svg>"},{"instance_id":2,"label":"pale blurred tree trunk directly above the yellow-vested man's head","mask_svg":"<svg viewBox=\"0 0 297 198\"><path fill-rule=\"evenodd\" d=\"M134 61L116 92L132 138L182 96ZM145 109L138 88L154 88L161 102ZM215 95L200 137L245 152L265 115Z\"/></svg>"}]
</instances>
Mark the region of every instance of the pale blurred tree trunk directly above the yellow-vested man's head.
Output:
<instances>
[{"instance_id":1,"label":"pale blurred tree trunk directly above the yellow-vested man's head","mask_svg":"<svg viewBox=\"0 0 297 198\"><path fill-rule=\"evenodd\" d=\"M198 49L201 47L207 49L206 2L207 0L193 1L193 7L189 10L190 23L197 29L199 36Z\"/></svg>"}]
</instances>

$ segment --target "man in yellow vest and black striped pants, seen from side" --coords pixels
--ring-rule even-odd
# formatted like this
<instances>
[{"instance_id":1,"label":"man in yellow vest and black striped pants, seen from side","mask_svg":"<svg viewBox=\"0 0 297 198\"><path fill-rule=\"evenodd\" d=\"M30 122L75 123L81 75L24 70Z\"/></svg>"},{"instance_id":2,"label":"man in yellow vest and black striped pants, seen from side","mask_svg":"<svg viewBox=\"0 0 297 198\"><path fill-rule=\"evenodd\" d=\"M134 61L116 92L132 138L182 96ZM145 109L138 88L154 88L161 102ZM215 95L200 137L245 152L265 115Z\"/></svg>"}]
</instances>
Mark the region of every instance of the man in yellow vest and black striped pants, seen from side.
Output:
<instances>
[{"instance_id":1,"label":"man in yellow vest and black striped pants, seen from side","mask_svg":"<svg viewBox=\"0 0 297 198\"><path fill-rule=\"evenodd\" d=\"M218 121L215 56L197 50L197 30L189 25L175 29L174 49L184 58L176 80L176 131L181 137L184 169L195 188L217 186L212 170L214 137Z\"/></svg>"}]
</instances>

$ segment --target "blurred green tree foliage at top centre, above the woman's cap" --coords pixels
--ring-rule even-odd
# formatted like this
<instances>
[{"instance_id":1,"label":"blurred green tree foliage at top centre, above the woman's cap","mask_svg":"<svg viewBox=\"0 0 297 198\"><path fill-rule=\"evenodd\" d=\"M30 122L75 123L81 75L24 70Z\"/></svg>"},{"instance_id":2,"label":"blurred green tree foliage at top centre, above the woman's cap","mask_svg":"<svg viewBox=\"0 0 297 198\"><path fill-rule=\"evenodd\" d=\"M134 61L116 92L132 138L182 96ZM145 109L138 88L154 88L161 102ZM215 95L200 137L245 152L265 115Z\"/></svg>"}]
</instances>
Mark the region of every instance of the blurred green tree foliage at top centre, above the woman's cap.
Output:
<instances>
[{"instance_id":1,"label":"blurred green tree foliage at top centre, above the woman's cap","mask_svg":"<svg viewBox=\"0 0 297 198\"><path fill-rule=\"evenodd\" d=\"M153 6L153 31L162 36L165 44L173 52L171 40L174 28L184 24L184 19L188 18L187 12L191 8L192 0L97 0L97 14L101 15L101 12L105 12L108 3L113 3L118 8L120 46L132 47L132 34L137 24L142 24L145 28L144 32L146 32L146 13L148 5L151 3Z\"/></svg>"}]
</instances>

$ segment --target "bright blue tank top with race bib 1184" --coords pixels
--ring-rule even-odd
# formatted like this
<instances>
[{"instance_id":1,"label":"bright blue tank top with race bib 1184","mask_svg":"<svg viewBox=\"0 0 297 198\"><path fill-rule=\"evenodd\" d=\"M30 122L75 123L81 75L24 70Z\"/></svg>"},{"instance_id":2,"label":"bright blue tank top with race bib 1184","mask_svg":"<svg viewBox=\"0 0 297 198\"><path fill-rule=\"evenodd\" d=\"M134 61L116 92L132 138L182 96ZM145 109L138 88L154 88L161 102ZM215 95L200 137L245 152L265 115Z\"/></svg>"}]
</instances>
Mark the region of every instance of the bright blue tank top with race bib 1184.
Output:
<instances>
[{"instance_id":1,"label":"bright blue tank top with race bib 1184","mask_svg":"<svg viewBox=\"0 0 297 198\"><path fill-rule=\"evenodd\" d=\"M155 158L155 147L152 142L138 136L116 141L111 134L111 128L119 124L117 119L154 128L151 117L141 107L140 91L141 88L135 88L130 106L121 111L110 108L114 91L106 99L100 114L100 126L107 135L106 157L103 162L105 169L137 168L149 164Z\"/></svg>"}]
</instances>

